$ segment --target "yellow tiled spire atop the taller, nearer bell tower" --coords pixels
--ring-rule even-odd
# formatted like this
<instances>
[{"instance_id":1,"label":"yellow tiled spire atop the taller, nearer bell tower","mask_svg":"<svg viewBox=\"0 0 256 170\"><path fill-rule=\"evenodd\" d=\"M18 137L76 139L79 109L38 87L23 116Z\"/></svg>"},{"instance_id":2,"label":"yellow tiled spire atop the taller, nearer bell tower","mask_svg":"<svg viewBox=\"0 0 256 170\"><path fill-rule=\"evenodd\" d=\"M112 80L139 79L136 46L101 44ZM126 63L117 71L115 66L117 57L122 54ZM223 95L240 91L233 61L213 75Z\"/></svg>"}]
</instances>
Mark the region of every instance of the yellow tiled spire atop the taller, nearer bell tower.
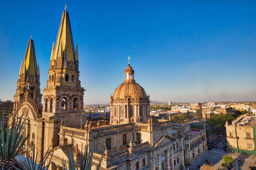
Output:
<instances>
[{"instance_id":1,"label":"yellow tiled spire atop the taller, nearer bell tower","mask_svg":"<svg viewBox=\"0 0 256 170\"><path fill-rule=\"evenodd\" d=\"M53 50L53 55L51 56L51 60L55 60L54 67L57 67L57 63L59 63L58 56L60 56L59 52L61 48L61 53L64 57L61 62L61 68L77 70L75 64L75 50L72 31L69 21L69 13L67 10L64 10L62 13L56 44Z\"/></svg>"}]
</instances>

